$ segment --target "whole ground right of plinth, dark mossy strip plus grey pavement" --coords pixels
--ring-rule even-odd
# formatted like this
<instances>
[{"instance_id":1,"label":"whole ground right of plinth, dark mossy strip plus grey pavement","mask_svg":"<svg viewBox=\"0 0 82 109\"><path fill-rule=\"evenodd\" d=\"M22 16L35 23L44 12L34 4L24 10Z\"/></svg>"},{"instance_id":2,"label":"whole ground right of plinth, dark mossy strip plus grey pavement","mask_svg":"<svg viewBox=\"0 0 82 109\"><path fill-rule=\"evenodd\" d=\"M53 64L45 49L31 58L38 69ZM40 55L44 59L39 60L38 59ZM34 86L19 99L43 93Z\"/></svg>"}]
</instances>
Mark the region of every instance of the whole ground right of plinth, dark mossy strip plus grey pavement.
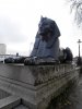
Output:
<instances>
[{"instance_id":1,"label":"whole ground right of plinth, dark mossy strip plus grey pavement","mask_svg":"<svg viewBox=\"0 0 82 109\"><path fill-rule=\"evenodd\" d=\"M77 86L56 98L49 109L82 109L82 75L80 75Z\"/></svg>"}]
</instances>

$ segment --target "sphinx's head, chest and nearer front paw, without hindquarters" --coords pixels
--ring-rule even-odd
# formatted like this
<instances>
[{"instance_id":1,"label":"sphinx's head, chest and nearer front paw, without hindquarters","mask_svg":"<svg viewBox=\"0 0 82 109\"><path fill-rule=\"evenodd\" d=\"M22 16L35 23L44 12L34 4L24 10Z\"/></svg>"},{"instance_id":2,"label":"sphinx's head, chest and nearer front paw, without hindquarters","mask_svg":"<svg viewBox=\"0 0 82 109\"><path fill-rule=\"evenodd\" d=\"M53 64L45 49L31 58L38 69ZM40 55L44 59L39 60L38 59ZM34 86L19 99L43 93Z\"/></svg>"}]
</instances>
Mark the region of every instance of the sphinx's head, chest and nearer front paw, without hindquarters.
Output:
<instances>
[{"instance_id":1,"label":"sphinx's head, chest and nearer front paw, without hindquarters","mask_svg":"<svg viewBox=\"0 0 82 109\"><path fill-rule=\"evenodd\" d=\"M24 64L42 64L58 61L60 31L55 21L42 17L34 48Z\"/></svg>"}]
</instances>

